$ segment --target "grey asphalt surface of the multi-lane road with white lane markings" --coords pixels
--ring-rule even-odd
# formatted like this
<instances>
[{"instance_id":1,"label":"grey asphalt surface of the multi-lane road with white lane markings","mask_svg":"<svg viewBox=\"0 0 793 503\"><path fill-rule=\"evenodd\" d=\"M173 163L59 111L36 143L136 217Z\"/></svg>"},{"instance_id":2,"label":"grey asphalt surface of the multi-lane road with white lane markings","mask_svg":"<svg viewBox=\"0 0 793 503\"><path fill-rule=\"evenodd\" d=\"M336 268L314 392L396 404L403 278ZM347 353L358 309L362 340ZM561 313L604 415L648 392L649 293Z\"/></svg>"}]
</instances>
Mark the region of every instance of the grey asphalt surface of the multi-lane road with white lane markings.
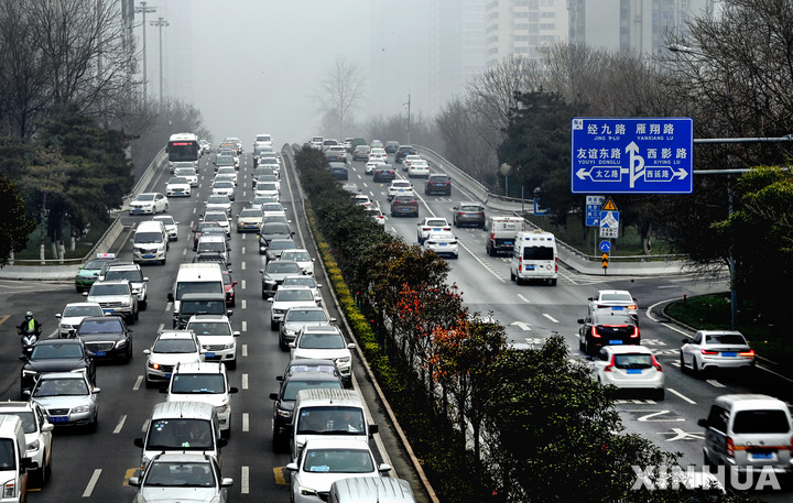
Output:
<instances>
[{"instance_id":1,"label":"grey asphalt surface of the multi-lane road with white lane markings","mask_svg":"<svg viewBox=\"0 0 793 503\"><path fill-rule=\"evenodd\" d=\"M149 308L141 313L134 329L135 358L130 364L108 364L98 369L100 413L99 428L95 434L58 431L54 441L53 478L41 492L31 494L31 501L119 501L131 499L132 488L126 485L140 462L140 450L132 445L134 437L141 435L152 406L162 401L156 390L146 390L143 385L142 350L149 347L159 330L171 327L171 305L166 293L171 289L180 262L189 262L193 258L192 232L202 214L203 204L209 194L209 183L214 174L213 155L200 162L199 187L191 198L171 198L170 215L180 222L180 239L171 243L169 261L165 265L144 265L149 277ZM400 165L398 176L404 176ZM245 201L250 201L252 160L245 154L240 160L239 185L232 215L236 215ZM170 174L164 170L154 177L151 190L164 193ZM294 173L284 170L286 183L282 185L282 203L289 217L295 223L298 243L316 256L309 234L302 217L300 193ZM391 218L387 201L384 183L372 183L371 176L363 173L363 163L350 163L349 182L372 200L380 204L387 215L385 230L399 234L406 242L416 241L416 218ZM413 183L420 197L420 217L438 216L450 220L452 207L460 200L472 199L458 186L452 196L424 196L423 178ZM146 217L123 217L130 229L140 219ZM597 289L629 289L639 299L640 320L644 345L656 351L666 376L666 400L655 402L648 396L620 396L617 407L630 433L639 433L658 442L667 450L683 453L682 464L702 464L702 428L696 425L704 417L713 398L734 392L762 392L791 400L790 382L773 373L759 372L756 376L732 379L718 375L699 380L683 374L677 367L677 349L681 339L687 332L665 322L655 307L670 298L716 292L726 288L724 281L697 278L694 276L674 277L616 277L587 276L562 267L557 286L522 285L510 282L509 262L504 258L491 258L485 252L485 232L480 229L454 229L459 238L460 254L450 261L449 283L455 283L464 295L466 304L481 313L493 311L493 316L508 329L514 342L542 343L554 332L565 337L571 349L571 358L583 359L578 351L576 333L577 318L586 313L586 299ZM122 259L131 259L129 237L123 234L115 251ZM235 479L231 495L235 501L287 501L289 474L283 467L287 455L273 452L271 444L270 417L272 403L268 398L275 391L274 376L283 370L287 353L278 347L276 332L270 330L269 304L261 298L259 270L264 265L263 255L259 255L256 234L231 237L231 262L237 286L237 307L231 318L236 330L241 331L238 340L239 364L230 371L231 384L240 389L233 396L232 434L228 447L224 449L222 469L225 477ZM325 305L337 318L339 314L333 305L327 281L317 267L321 283L325 284ZM72 283L20 283L2 282L0 302L3 315L9 315L0 324L0 392L3 400L19 397L19 339L14 325L25 310L32 309L45 326L45 332L53 332L56 326L55 313L69 302L79 302L80 295ZM371 396L361 373L360 362L356 375L361 392ZM395 468L395 474L411 480L416 494L424 496L419 483L404 459L398 442L391 435L391 428L383 428L385 419L378 415L380 407L370 407L374 420L381 424L383 434L372 446L379 456ZM764 494L764 499L774 501L775 494ZM775 501L783 501L784 497Z\"/></svg>"}]
</instances>

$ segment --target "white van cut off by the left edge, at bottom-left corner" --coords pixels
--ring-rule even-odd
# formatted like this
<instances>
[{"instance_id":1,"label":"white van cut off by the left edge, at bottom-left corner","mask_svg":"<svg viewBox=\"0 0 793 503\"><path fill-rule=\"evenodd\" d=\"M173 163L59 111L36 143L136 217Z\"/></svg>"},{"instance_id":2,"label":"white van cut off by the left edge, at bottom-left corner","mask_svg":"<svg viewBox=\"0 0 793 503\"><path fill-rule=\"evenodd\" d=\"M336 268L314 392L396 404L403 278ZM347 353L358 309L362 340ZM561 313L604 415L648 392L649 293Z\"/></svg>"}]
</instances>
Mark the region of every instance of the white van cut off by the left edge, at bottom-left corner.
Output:
<instances>
[{"instance_id":1,"label":"white van cut off by the left edge, at bottom-left corner","mask_svg":"<svg viewBox=\"0 0 793 503\"><path fill-rule=\"evenodd\" d=\"M28 469L39 468L25 458L22 419L15 415L0 415L0 480L3 481L0 502L21 502L28 495Z\"/></svg>"}]
</instances>

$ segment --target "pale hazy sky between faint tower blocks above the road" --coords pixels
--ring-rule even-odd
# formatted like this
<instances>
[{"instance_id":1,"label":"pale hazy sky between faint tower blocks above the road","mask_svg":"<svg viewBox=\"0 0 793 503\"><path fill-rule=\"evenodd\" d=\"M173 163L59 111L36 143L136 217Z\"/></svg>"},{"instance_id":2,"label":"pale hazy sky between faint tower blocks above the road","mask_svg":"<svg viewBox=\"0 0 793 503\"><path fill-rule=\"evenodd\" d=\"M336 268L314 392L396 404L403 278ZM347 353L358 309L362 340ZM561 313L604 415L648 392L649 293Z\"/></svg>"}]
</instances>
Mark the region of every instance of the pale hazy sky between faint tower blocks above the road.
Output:
<instances>
[{"instance_id":1,"label":"pale hazy sky between faint tower blocks above the road","mask_svg":"<svg viewBox=\"0 0 793 503\"><path fill-rule=\"evenodd\" d=\"M249 147L257 133L271 133L279 146L307 141L318 129L314 95L324 70L345 57L368 75L371 0L186 1L193 99L215 141L239 136Z\"/></svg>"}]
</instances>

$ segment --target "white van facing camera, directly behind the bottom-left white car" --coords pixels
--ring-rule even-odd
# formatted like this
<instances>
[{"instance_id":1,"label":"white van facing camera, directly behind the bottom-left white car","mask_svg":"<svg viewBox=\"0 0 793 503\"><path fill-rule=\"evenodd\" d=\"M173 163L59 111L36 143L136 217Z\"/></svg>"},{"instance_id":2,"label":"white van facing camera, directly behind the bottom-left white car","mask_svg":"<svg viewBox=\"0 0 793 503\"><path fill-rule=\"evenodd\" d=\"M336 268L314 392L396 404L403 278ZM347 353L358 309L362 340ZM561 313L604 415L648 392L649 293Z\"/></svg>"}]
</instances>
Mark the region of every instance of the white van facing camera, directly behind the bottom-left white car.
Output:
<instances>
[{"instance_id":1,"label":"white van facing camera, directly behind the bottom-left white car","mask_svg":"<svg viewBox=\"0 0 793 503\"><path fill-rule=\"evenodd\" d=\"M145 437L134 439L142 449L141 471L166 452L197 452L213 456L220 464L220 448L228 440L220 436L215 407L206 402L163 402L154 405Z\"/></svg>"}]
</instances>

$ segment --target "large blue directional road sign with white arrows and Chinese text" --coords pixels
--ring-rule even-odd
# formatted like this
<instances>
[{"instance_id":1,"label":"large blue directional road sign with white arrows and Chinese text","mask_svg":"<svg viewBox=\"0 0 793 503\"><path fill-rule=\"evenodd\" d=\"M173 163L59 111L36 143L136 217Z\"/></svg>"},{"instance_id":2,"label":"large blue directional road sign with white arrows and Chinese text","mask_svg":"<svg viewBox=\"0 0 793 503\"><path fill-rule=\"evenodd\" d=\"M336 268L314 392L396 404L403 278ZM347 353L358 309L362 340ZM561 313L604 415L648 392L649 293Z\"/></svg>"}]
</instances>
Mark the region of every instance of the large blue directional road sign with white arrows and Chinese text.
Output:
<instances>
[{"instance_id":1,"label":"large blue directional road sign with white arrows and Chinese text","mask_svg":"<svg viewBox=\"0 0 793 503\"><path fill-rule=\"evenodd\" d=\"M691 194L691 118L575 118L574 194Z\"/></svg>"}]
</instances>

